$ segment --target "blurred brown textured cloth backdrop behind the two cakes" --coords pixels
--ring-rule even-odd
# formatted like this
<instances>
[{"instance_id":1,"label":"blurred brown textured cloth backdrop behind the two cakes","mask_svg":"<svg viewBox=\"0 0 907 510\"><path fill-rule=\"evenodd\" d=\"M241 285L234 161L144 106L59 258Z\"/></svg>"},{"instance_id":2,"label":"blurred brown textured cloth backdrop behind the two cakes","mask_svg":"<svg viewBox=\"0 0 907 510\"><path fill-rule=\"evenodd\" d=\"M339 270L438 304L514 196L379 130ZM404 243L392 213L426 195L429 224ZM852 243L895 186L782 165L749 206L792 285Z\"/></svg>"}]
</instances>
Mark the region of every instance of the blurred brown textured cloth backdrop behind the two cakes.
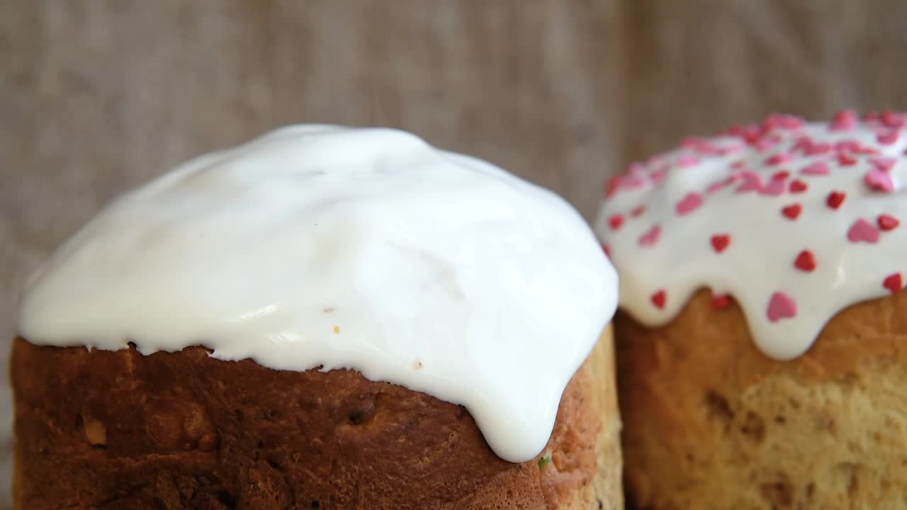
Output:
<instances>
[{"instance_id":1,"label":"blurred brown textured cloth backdrop behind the two cakes","mask_svg":"<svg viewBox=\"0 0 907 510\"><path fill-rule=\"evenodd\" d=\"M773 111L907 109L899 0L0 0L0 509L24 276L103 203L285 123L383 124L590 218L603 182Z\"/></svg>"}]
</instances>

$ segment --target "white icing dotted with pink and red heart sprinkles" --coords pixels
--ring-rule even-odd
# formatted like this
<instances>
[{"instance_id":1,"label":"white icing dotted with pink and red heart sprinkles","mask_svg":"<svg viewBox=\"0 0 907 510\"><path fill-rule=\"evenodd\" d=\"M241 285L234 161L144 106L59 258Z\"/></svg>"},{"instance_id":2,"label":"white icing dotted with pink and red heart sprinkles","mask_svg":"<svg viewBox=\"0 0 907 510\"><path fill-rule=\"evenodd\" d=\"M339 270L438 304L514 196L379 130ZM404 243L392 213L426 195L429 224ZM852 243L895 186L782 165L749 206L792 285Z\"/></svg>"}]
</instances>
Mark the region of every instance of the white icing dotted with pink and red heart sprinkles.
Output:
<instances>
[{"instance_id":1,"label":"white icing dotted with pink and red heart sprinkles","mask_svg":"<svg viewBox=\"0 0 907 510\"><path fill-rule=\"evenodd\" d=\"M710 288L766 355L803 354L839 310L903 287L905 128L899 113L773 115L631 165L596 222L621 307L658 326Z\"/></svg>"}]
</instances>

